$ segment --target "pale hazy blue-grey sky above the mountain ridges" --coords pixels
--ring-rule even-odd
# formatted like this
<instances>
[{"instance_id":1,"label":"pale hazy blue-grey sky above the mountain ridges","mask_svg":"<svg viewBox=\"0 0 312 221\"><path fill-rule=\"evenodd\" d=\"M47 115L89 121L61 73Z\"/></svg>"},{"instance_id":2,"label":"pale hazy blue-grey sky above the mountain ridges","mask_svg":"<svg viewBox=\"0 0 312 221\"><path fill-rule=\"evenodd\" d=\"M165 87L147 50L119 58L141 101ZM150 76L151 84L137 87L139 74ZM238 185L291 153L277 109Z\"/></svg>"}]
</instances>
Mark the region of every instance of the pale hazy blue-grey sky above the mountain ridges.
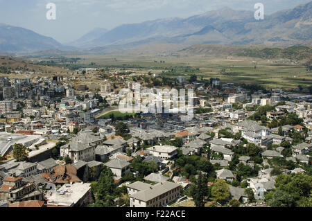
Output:
<instances>
[{"instance_id":1,"label":"pale hazy blue-grey sky above the mountain ridges","mask_svg":"<svg viewBox=\"0 0 312 221\"><path fill-rule=\"evenodd\" d=\"M294 8L311 0L0 0L0 23L21 26L61 43L78 39L94 28L166 17L189 17L229 7L254 11L263 3L265 14ZM46 19L47 3L55 3L56 19Z\"/></svg>"}]
</instances>

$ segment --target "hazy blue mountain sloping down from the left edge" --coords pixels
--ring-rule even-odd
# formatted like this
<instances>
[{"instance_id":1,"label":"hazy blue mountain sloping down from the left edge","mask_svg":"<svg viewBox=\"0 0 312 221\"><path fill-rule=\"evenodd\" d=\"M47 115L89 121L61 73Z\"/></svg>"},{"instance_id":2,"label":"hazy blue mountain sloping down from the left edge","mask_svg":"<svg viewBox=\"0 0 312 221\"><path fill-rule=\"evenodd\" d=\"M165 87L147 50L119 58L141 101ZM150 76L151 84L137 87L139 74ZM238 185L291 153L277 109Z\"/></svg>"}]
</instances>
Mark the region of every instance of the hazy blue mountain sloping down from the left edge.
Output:
<instances>
[{"instance_id":1,"label":"hazy blue mountain sloping down from the left edge","mask_svg":"<svg viewBox=\"0 0 312 221\"><path fill-rule=\"evenodd\" d=\"M8 53L33 52L49 49L70 49L51 37L39 35L32 30L0 24L0 51Z\"/></svg>"}]
</instances>

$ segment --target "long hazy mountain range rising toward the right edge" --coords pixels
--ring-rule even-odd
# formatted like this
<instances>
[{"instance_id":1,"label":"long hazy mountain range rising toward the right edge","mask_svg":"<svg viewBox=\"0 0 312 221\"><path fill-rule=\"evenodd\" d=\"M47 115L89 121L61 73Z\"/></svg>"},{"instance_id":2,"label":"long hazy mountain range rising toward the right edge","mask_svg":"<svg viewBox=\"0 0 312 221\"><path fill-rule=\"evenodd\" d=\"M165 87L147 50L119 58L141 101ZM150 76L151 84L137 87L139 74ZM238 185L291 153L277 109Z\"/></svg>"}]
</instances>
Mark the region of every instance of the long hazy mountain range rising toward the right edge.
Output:
<instances>
[{"instance_id":1,"label":"long hazy mountain range rising toward the right edge","mask_svg":"<svg viewBox=\"0 0 312 221\"><path fill-rule=\"evenodd\" d=\"M85 47L116 47L137 44L312 44L312 1L291 10L255 20L254 12L223 8L187 19L171 18L123 24L84 44ZM140 43L139 43L140 42ZM98 51L100 48L94 48Z\"/></svg>"}]
</instances>

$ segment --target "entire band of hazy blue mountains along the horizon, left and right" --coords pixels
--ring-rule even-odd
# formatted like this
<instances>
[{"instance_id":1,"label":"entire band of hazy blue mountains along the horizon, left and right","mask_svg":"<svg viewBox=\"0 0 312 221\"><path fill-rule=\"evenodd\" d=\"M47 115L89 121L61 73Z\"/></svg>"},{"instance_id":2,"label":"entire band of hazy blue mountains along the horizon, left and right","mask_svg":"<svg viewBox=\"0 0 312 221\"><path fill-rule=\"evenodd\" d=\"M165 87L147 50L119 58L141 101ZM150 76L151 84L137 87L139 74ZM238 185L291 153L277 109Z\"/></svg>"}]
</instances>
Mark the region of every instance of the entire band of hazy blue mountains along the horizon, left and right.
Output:
<instances>
[{"instance_id":1,"label":"entire band of hazy blue mountains along the horizon, left and right","mask_svg":"<svg viewBox=\"0 0 312 221\"><path fill-rule=\"evenodd\" d=\"M290 10L254 19L254 12L223 8L187 19L170 18L123 24L112 30L96 28L63 46L25 28L0 26L0 51L45 50L107 53L154 46L156 51L177 50L193 44L292 46L312 44L312 1ZM121 52L122 52L121 50Z\"/></svg>"}]
</instances>

